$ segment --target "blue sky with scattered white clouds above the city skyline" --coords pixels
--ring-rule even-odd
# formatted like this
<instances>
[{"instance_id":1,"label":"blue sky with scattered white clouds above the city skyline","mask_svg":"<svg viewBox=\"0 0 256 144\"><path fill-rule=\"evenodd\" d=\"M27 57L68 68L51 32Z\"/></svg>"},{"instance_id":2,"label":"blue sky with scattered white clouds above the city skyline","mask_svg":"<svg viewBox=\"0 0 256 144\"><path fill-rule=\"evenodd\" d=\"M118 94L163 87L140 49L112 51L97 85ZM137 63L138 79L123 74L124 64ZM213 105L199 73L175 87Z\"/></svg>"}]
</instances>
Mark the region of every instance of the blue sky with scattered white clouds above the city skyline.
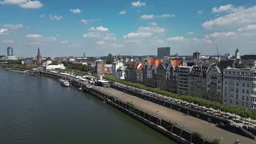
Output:
<instances>
[{"instance_id":1,"label":"blue sky with scattered white clouds above the city skyline","mask_svg":"<svg viewBox=\"0 0 256 144\"><path fill-rule=\"evenodd\" d=\"M256 53L256 1L0 0L0 19L0 55Z\"/></svg>"}]
</instances>

